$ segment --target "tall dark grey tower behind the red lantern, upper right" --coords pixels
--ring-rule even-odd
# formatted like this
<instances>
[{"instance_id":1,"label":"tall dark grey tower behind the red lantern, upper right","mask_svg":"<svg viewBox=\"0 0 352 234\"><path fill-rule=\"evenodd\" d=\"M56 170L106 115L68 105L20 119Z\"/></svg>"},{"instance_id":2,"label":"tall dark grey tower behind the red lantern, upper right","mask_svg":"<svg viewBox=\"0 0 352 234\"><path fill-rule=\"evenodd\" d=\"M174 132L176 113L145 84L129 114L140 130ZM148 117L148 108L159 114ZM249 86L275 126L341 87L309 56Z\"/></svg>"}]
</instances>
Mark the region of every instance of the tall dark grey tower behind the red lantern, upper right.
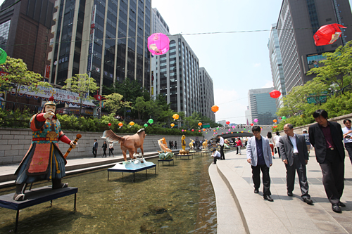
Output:
<instances>
[{"instance_id":1,"label":"tall dark grey tower behind the red lantern, upper right","mask_svg":"<svg viewBox=\"0 0 352 234\"><path fill-rule=\"evenodd\" d=\"M315 46L313 35L323 25L351 25L348 0L284 0L277 20L286 91L313 79L306 72L318 66L322 53L334 51L352 39L352 31L342 29L341 37L327 46Z\"/></svg>"}]
</instances>

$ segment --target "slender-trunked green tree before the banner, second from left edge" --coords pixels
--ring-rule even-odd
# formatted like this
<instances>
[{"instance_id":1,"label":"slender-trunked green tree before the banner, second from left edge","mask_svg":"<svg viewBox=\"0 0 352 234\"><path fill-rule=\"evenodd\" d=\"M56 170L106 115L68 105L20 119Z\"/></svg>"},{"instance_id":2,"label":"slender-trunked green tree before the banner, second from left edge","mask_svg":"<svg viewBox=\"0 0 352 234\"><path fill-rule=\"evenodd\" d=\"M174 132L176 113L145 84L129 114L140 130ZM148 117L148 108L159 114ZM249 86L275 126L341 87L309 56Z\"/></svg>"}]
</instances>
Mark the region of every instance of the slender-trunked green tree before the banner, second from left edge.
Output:
<instances>
[{"instance_id":1,"label":"slender-trunked green tree before the banner, second from left edge","mask_svg":"<svg viewBox=\"0 0 352 234\"><path fill-rule=\"evenodd\" d=\"M89 96L89 92L94 92L99 89L99 86L96 85L94 78L88 77L87 74L75 74L74 77L68 78L65 80L65 85L62 89L78 93L80 97L80 115L82 112L82 104L86 100L94 100Z\"/></svg>"}]
</instances>

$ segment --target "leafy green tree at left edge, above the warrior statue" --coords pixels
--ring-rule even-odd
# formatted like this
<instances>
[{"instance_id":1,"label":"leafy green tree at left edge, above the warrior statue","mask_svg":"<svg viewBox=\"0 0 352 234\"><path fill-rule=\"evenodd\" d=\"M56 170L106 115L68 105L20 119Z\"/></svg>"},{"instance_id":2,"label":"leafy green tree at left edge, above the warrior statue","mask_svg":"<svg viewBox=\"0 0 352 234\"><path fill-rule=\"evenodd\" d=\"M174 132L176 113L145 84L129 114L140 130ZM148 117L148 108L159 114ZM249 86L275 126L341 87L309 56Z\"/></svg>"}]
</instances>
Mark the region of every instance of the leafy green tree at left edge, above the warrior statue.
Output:
<instances>
[{"instance_id":1,"label":"leafy green tree at left edge, above the warrior statue","mask_svg":"<svg viewBox=\"0 0 352 234\"><path fill-rule=\"evenodd\" d=\"M44 93L41 87L49 88L48 82L43 82L42 75L27 70L27 65L20 58L6 58L6 62L0 65L6 77L0 79L1 89L13 89L15 100L18 101L18 94L28 92Z\"/></svg>"}]
</instances>

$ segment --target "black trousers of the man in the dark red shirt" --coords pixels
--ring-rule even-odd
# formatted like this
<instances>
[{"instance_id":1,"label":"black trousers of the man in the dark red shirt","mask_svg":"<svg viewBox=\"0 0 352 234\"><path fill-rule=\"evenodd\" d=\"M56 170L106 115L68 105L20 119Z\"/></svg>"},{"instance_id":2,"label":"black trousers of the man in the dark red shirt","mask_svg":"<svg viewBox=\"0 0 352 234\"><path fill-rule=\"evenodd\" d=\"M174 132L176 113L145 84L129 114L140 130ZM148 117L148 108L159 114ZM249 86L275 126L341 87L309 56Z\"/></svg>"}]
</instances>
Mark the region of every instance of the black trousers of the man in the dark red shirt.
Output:
<instances>
[{"instance_id":1,"label":"black trousers of the man in the dark red shirt","mask_svg":"<svg viewBox=\"0 0 352 234\"><path fill-rule=\"evenodd\" d=\"M320 164L322 169L322 184L327 193L327 198L332 204L338 204L342 192L344 191L344 162L341 162L337 150L327 150L327 155L323 163Z\"/></svg>"}]
</instances>

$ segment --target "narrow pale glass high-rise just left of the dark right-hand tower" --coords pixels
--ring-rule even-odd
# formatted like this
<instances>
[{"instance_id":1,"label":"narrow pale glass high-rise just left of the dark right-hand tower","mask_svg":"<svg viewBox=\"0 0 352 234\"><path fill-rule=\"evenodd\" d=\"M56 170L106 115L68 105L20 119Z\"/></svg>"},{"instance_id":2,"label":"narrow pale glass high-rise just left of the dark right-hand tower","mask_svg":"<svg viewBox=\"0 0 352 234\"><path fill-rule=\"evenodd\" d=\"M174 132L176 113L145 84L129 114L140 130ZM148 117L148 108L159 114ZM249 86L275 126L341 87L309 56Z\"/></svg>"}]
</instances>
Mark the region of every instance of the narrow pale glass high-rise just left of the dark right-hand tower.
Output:
<instances>
[{"instance_id":1,"label":"narrow pale glass high-rise just left of the dark right-hand tower","mask_svg":"<svg viewBox=\"0 0 352 234\"><path fill-rule=\"evenodd\" d=\"M284 69L282 67L279 37L277 37L276 26L276 23L272 24L271 26L268 48L274 89L281 92L281 96L276 99L276 107L280 108L280 106L282 105L282 97L286 95L286 87L284 79Z\"/></svg>"}]
</instances>

